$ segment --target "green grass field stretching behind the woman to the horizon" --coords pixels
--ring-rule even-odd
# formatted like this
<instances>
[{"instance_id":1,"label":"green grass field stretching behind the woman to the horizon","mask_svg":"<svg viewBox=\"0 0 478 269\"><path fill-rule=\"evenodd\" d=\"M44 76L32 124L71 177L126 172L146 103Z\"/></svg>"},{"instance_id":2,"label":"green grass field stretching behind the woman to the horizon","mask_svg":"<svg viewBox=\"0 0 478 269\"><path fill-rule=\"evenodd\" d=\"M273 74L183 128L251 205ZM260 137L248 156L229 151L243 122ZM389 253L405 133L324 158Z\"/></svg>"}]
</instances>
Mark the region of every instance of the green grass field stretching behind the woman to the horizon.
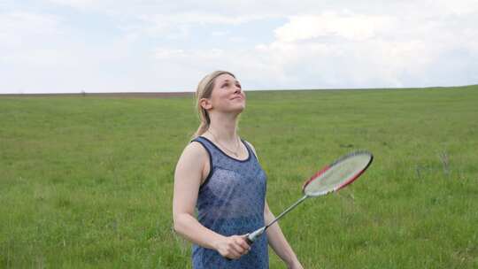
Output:
<instances>
[{"instance_id":1,"label":"green grass field stretching behind the woman to the horizon","mask_svg":"<svg viewBox=\"0 0 478 269\"><path fill-rule=\"evenodd\" d=\"M478 268L478 86L247 95L276 214L320 166L374 153L281 219L305 268ZM192 97L0 98L0 268L189 268L173 170L197 124Z\"/></svg>"}]
</instances>

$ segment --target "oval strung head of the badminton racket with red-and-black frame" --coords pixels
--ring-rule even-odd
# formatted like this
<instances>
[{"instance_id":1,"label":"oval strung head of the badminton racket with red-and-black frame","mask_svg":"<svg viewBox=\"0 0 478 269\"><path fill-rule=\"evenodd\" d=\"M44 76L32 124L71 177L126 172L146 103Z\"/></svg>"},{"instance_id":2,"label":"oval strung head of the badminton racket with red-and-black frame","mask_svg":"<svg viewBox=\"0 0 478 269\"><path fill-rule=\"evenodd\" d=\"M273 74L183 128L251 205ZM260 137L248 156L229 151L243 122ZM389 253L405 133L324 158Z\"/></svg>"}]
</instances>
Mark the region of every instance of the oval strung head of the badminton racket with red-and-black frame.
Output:
<instances>
[{"instance_id":1,"label":"oval strung head of the badminton racket with red-and-black frame","mask_svg":"<svg viewBox=\"0 0 478 269\"><path fill-rule=\"evenodd\" d=\"M357 180L373 160L372 153L366 150L351 152L312 175L302 191L306 196L323 196L344 188Z\"/></svg>"}]
</instances>

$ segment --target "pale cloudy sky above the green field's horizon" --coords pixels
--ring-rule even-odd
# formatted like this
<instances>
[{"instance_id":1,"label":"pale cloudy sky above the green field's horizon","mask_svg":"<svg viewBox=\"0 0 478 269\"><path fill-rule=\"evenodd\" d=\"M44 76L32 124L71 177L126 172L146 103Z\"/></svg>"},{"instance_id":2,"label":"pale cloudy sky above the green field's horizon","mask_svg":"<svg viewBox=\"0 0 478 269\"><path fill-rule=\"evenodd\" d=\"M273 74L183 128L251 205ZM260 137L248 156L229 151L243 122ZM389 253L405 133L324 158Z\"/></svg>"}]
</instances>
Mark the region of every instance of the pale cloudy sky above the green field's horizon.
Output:
<instances>
[{"instance_id":1,"label":"pale cloudy sky above the green field's horizon","mask_svg":"<svg viewBox=\"0 0 478 269\"><path fill-rule=\"evenodd\" d=\"M478 84L478 0L0 0L0 94Z\"/></svg>"}]
</instances>

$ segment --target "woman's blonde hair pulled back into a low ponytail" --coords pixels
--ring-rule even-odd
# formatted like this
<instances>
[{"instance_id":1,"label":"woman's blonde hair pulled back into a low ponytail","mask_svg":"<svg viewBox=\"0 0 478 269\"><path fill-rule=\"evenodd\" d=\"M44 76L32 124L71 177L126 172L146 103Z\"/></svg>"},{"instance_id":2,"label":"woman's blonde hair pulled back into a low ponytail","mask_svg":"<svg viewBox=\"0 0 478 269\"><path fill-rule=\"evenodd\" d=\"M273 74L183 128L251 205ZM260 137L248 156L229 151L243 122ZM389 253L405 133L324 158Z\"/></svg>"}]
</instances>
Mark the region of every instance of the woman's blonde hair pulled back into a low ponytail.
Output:
<instances>
[{"instance_id":1,"label":"woman's blonde hair pulled back into a low ponytail","mask_svg":"<svg viewBox=\"0 0 478 269\"><path fill-rule=\"evenodd\" d=\"M229 74L235 78L235 75L233 73L227 72L227 71L214 71L208 75L206 75L201 81L199 81L199 84L197 85L197 90L196 90L196 107L197 107L197 113L199 115L199 120L201 123L199 124L199 127L197 128L196 133L192 135L192 138L197 138L199 135L203 135L207 129L209 129L209 125L211 124L211 119L209 118L208 112L201 106L200 101L202 98L211 98L212 95L212 88L214 88L214 81L216 80L217 77L219 77L221 74Z\"/></svg>"}]
</instances>

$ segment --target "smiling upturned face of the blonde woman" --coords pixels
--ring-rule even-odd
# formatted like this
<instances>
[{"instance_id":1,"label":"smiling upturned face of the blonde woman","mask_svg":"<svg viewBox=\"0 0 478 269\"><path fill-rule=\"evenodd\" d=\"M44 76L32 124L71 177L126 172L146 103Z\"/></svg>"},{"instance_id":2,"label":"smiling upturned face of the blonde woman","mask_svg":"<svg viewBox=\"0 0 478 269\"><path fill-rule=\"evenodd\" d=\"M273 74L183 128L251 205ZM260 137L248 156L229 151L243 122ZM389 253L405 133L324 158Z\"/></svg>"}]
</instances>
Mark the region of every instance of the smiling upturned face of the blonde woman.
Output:
<instances>
[{"instance_id":1,"label":"smiling upturned face of the blonde woman","mask_svg":"<svg viewBox=\"0 0 478 269\"><path fill-rule=\"evenodd\" d=\"M214 111L240 113L245 108L245 99L241 83L232 75L224 73L215 79L208 103Z\"/></svg>"}]
</instances>

